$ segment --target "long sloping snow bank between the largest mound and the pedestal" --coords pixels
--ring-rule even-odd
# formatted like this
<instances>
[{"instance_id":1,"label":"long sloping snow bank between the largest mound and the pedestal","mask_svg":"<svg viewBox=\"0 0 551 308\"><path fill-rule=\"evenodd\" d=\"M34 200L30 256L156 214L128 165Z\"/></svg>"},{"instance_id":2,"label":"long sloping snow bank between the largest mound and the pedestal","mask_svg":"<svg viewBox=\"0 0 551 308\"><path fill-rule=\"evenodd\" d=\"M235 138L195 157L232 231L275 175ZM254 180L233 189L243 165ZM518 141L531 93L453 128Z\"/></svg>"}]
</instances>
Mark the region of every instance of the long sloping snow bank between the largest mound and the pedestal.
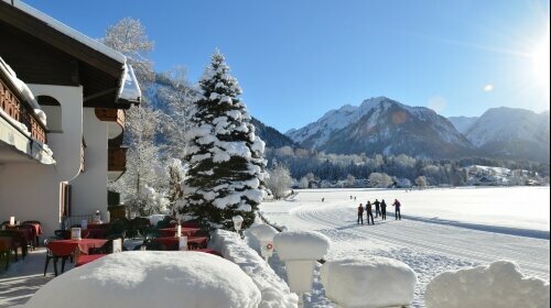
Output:
<instances>
[{"instance_id":1,"label":"long sloping snow bank between the largest mound and the pedestal","mask_svg":"<svg viewBox=\"0 0 551 308\"><path fill-rule=\"evenodd\" d=\"M236 233L217 230L210 240L210 248L222 252L225 258L239 265L252 278L262 297L259 308L298 307L299 297L289 290L285 282Z\"/></svg>"}]
</instances>

